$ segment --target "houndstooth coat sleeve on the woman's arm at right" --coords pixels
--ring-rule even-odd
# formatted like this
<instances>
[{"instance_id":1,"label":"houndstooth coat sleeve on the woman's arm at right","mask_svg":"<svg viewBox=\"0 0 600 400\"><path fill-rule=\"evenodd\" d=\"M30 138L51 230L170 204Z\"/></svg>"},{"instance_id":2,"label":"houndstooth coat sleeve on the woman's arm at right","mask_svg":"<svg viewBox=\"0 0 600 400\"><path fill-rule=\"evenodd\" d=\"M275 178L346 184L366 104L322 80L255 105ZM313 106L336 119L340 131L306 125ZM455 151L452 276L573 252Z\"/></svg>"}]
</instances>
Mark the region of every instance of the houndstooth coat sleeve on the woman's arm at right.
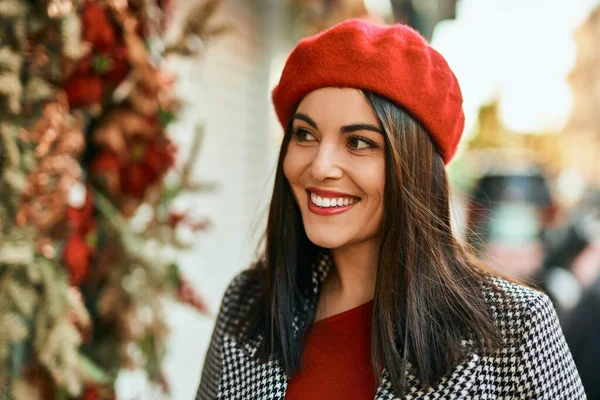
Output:
<instances>
[{"instance_id":1,"label":"houndstooth coat sleeve on the woman's arm at right","mask_svg":"<svg viewBox=\"0 0 600 400\"><path fill-rule=\"evenodd\" d=\"M585 399L579 373L548 296L539 293L531 300L523 323L521 397Z\"/></svg>"}]
</instances>

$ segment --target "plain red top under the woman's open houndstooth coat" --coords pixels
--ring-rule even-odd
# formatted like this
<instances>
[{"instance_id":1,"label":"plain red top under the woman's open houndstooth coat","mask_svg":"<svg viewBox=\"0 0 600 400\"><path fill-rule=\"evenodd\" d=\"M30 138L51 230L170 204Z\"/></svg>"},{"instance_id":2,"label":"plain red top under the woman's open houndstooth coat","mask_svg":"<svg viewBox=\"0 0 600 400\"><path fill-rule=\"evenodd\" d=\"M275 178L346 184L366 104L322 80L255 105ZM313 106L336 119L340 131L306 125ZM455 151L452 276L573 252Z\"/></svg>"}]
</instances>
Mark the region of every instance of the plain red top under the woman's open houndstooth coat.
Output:
<instances>
[{"instance_id":1,"label":"plain red top under the woman's open houndstooth coat","mask_svg":"<svg viewBox=\"0 0 600 400\"><path fill-rule=\"evenodd\" d=\"M288 382L286 400L369 399L377 380L371 363L373 300L317 321Z\"/></svg>"}]
</instances>

